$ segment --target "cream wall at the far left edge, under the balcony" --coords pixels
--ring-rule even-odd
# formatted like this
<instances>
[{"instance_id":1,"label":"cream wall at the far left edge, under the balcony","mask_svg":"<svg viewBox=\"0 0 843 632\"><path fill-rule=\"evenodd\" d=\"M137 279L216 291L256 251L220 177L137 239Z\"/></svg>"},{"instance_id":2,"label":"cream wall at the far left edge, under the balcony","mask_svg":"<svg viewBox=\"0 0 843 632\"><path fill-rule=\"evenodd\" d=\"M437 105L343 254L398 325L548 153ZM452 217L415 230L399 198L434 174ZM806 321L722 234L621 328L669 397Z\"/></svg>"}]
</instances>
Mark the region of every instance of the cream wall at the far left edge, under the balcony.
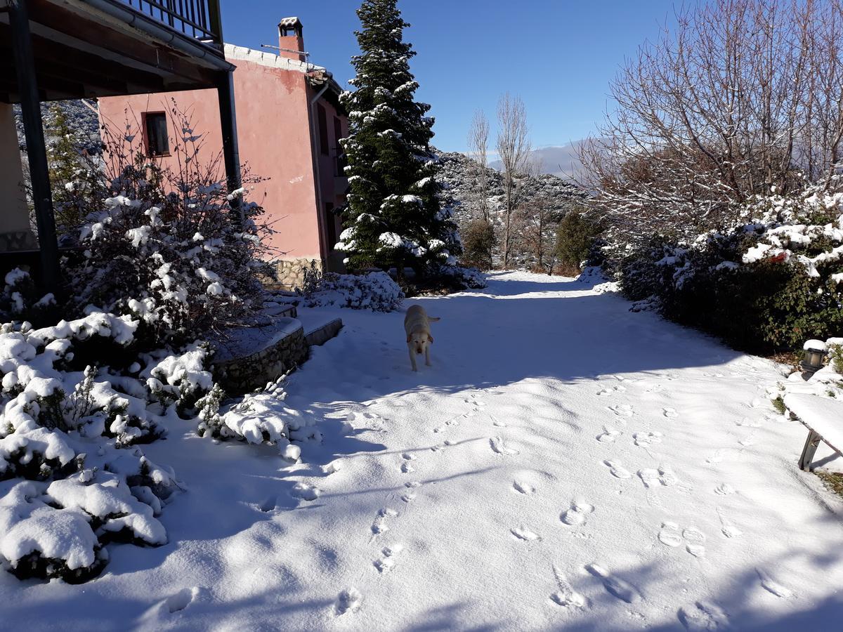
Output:
<instances>
[{"instance_id":1,"label":"cream wall at the far left edge, under the balcony","mask_svg":"<svg viewBox=\"0 0 843 632\"><path fill-rule=\"evenodd\" d=\"M0 103L0 252L35 248L23 181L12 106Z\"/></svg>"}]
</instances>

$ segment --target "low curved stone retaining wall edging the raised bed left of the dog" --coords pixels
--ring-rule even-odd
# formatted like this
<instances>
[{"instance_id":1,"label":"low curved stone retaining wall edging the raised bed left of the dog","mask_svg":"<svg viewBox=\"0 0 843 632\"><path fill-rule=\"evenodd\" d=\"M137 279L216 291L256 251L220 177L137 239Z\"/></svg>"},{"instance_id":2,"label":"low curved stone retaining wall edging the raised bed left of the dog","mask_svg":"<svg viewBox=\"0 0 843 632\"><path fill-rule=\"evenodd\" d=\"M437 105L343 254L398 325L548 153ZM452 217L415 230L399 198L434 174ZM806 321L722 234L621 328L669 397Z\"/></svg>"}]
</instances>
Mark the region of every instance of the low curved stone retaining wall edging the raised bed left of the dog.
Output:
<instances>
[{"instance_id":1,"label":"low curved stone retaining wall edging the raised bed left of the dog","mask_svg":"<svg viewBox=\"0 0 843 632\"><path fill-rule=\"evenodd\" d=\"M229 395L264 388L267 383L298 367L308 357L304 329L299 327L275 345L251 356L237 357L213 367L214 378Z\"/></svg>"}]
</instances>

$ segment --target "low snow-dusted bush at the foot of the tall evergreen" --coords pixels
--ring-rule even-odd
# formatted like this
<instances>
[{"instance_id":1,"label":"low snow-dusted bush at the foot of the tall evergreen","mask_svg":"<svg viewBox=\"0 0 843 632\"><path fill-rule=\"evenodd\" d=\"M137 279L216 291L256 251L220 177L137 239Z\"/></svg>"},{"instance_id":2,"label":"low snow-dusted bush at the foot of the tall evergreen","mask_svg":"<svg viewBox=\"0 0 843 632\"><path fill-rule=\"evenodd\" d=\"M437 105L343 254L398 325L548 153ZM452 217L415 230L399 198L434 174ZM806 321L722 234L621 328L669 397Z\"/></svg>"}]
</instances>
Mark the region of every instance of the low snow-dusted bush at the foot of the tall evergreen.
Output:
<instances>
[{"instance_id":1,"label":"low snow-dusted bush at the foot of the tall evergreen","mask_svg":"<svg viewBox=\"0 0 843 632\"><path fill-rule=\"evenodd\" d=\"M304 297L308 307L336 305L341 308L392 312L400 308L404 292L386 272L366 275L326 273L319 286Z\"/></svg>"}]
</instances>

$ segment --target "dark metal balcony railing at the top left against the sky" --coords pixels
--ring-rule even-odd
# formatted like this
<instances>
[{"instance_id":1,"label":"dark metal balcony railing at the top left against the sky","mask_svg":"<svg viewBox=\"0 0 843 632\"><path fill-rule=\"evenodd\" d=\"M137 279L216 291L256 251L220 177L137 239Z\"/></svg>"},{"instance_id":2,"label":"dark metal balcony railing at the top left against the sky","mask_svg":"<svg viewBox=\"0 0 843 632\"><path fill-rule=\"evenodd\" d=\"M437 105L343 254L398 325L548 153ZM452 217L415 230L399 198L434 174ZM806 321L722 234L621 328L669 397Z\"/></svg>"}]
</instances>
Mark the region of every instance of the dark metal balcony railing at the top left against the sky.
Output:
<instances>
[{"instance_id":1,"label":"dark metal balcony railing at the top left against the sky","mask_svg":"<svg viewBox=\"0 0 843 632\"><path fill-rule=\"evenodd\" d=\"M196 40L223 48L219 0L121 0L137 12Z\"/></svg>"}]
</instances>

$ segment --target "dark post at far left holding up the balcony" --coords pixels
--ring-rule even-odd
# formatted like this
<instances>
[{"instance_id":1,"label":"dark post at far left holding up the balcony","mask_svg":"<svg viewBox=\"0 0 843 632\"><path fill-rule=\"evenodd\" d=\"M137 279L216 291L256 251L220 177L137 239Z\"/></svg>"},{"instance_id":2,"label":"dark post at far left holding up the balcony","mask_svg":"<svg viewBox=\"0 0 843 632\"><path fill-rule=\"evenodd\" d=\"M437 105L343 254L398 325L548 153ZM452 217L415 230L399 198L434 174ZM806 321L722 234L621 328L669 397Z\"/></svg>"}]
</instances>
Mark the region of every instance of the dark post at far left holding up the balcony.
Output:
<instances>
[{"instance_id":1,"label":"dark post at far left holding up the balcony","mask_svg":"<svg viewBox=\"0 0 843 632\"><path fill-rule=\"evenodd\" d=\"M38 224L41 255L41 284L47 292L58 292L59 262L56 240L56 218L53 214L50 171L41 125L41 105L35 79L35 57L32 52L30 16L26 0L9 0L8 19L12 27L12 53L18 77L20 113L24 120L26 155L30 162L32 202Z\"/></svg>"}]
</instances>

